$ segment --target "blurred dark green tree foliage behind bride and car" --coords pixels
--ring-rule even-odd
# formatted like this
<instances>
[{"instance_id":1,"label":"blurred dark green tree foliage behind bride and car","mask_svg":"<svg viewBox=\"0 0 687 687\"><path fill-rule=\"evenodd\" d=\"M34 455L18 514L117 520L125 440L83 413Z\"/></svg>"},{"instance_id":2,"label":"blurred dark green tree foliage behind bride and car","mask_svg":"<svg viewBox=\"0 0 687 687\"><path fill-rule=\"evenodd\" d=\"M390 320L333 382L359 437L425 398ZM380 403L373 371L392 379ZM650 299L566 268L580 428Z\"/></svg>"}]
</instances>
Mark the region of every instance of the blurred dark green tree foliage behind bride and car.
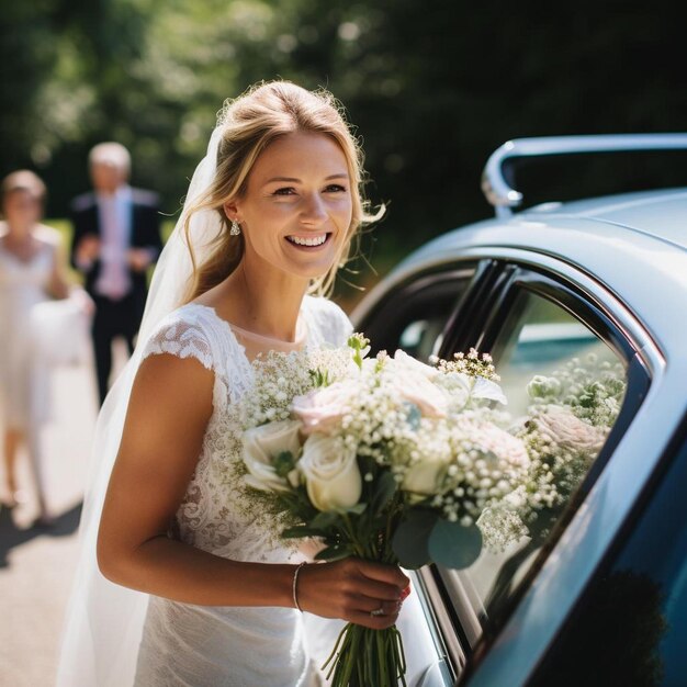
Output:
<instances>
[{"instance_id":1,"label":"blurred dark green tree foliage behind bride and car","mask_svg":"<svg viewBox=\"0 0 687 687\"><path fill-rule=\"evenodd\" d=\"M223 100L275 77L327 86L388 202L365 251L380 273L491 215L488 155L513 137L687 129L677 1L3 0L0 173L27 167L48 216L89 187L101 140L179 210ZM687 182L676 154L523 165L528 201ZM363 271L368 268L363 268ZM373 279L369 272L360 278Z\"/></svg>"}]
</instances>

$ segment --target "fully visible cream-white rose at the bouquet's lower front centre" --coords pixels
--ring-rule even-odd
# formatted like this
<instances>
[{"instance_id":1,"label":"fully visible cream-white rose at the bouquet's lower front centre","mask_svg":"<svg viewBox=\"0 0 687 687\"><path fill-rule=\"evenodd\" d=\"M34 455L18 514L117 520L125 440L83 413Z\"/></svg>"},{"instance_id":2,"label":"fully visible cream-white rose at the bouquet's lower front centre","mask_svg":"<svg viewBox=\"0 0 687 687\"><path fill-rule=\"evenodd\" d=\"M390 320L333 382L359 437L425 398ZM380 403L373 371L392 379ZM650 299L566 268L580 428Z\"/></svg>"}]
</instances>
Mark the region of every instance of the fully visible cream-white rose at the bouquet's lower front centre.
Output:
<instances>
[{"instance_id":1,"label":"fully visible cream-white rose at the bouquet's lower front centre","mask_svg":"<svg viewBox=\"0 0 687 687\"><path fill-rule=\"evenodd\" d=\"M360 499L362 478L356 450L337 437L311 435L303 444L299 468L317 510L350 508Z\"/></svg>"}]
</instances>

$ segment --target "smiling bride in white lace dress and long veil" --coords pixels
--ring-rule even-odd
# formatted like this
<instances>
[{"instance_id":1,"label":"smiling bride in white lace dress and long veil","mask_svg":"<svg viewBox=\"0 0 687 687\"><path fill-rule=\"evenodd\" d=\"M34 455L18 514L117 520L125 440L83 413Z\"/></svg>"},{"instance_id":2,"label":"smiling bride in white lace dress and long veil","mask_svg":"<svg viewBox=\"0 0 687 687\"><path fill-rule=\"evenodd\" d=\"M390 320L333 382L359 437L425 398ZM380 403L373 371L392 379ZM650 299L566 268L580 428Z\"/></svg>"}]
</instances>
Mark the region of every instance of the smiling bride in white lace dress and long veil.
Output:
<instances>
[{"instance_id":1,"label":"smiling bride in white lace dress and long veil","mask_svg":"<svg viewBox=\"0 0 687 687\"><path fill-rule=\"evenodd\" d=\"M303 564L227 477L251 361L351 330L320 294L374 218L361 176L329 93L277 81L225 108L99 419L58 685L319 685L300 610L395 622L398 568Z\"/></svg>"}]
</instances>

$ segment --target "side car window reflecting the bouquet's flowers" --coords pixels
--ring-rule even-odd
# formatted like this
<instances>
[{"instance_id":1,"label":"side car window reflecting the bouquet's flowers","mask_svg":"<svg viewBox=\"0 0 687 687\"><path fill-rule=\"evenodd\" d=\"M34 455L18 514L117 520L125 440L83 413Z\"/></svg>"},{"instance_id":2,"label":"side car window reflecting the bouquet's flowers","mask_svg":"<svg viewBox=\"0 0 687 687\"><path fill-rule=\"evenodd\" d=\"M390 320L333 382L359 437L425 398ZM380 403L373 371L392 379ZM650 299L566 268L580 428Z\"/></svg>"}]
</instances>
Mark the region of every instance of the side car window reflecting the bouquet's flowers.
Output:
<instances>
[{"instance_id":1,"label":"side car window reflecting the bouquet's flowers","mask_svg":"<svg viewBox=\"0 0 687 687\"><path fill-rule=\"evenodd\" d=\"M491 548L483 548L469 568L438 568L469 646L498 630L514 598L530 584L528 573L541 564L545 544L560 536L618 416L627 379L621 357L590 327L526 289L509 308L492 352L508 398L503 421L529 442L539 461L532 463L527 497L521 494L522 505L514 508L527 533L499 550L507 521L491 513L481 522L485 538L491 532ZM541 444L542 437L555 440ZM537 503L547 480L556 483L556 497Z\"/></svg>"}]
</instances>

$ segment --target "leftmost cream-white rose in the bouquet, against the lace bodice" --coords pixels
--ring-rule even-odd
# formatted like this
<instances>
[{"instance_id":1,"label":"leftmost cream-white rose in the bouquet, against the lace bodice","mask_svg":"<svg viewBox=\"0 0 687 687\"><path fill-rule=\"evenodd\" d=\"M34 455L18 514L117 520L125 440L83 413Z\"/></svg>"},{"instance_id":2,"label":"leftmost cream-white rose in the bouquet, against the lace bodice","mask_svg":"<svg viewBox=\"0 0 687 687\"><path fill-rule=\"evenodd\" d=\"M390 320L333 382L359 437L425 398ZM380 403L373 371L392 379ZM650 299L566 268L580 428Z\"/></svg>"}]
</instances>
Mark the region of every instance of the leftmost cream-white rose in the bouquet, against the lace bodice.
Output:
<instances>
[{"instance_id":1,"label":"leftmost cream-white rose in the bouquet, against the lace bodice","mask_svg":"<svg viewBox=\"0 0 687 687\"><path fill-rule=\"evenodd\" d=\"M303 425L299 420L280 420L244 432L244 462L248 469L245 480L250 486L263 492L289 491L289 483L274 470L274 459L289 451L294 459L301 451L299 433Z\"/></svg>"}]
</instances>

